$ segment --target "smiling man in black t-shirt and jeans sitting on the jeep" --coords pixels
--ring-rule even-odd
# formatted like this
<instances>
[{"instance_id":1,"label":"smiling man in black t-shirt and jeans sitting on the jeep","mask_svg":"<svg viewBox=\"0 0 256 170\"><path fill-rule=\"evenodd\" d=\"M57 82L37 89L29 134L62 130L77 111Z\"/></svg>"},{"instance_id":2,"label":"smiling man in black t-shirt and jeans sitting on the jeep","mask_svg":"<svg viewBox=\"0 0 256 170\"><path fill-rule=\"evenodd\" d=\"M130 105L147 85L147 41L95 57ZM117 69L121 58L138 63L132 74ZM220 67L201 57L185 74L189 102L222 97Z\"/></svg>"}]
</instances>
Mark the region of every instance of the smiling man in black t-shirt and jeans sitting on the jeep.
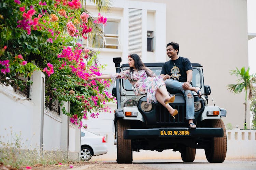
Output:
<instances>
[{"instance_id":1,"label":"smiling man in black t-shirt and jeans sitting on the jeep","mask_svg":"<svg viewBox=\"0 0 256 170\"><path fill-rule=\"evenodd\" d=\"M179 50L178 43L171 42L166 45L166 53L171 60L163 64L160 76L165 80L167 88L175 88L183 92L186 100L186 120L190 128L196 128L193 122L195 119L194 97L192 91L187 90L191 87L193 67L187 58L179 56ZM183 82L182 87L176 81ZM196 92L201 97L201 90Z\"/></svg>"}]
</instances>

